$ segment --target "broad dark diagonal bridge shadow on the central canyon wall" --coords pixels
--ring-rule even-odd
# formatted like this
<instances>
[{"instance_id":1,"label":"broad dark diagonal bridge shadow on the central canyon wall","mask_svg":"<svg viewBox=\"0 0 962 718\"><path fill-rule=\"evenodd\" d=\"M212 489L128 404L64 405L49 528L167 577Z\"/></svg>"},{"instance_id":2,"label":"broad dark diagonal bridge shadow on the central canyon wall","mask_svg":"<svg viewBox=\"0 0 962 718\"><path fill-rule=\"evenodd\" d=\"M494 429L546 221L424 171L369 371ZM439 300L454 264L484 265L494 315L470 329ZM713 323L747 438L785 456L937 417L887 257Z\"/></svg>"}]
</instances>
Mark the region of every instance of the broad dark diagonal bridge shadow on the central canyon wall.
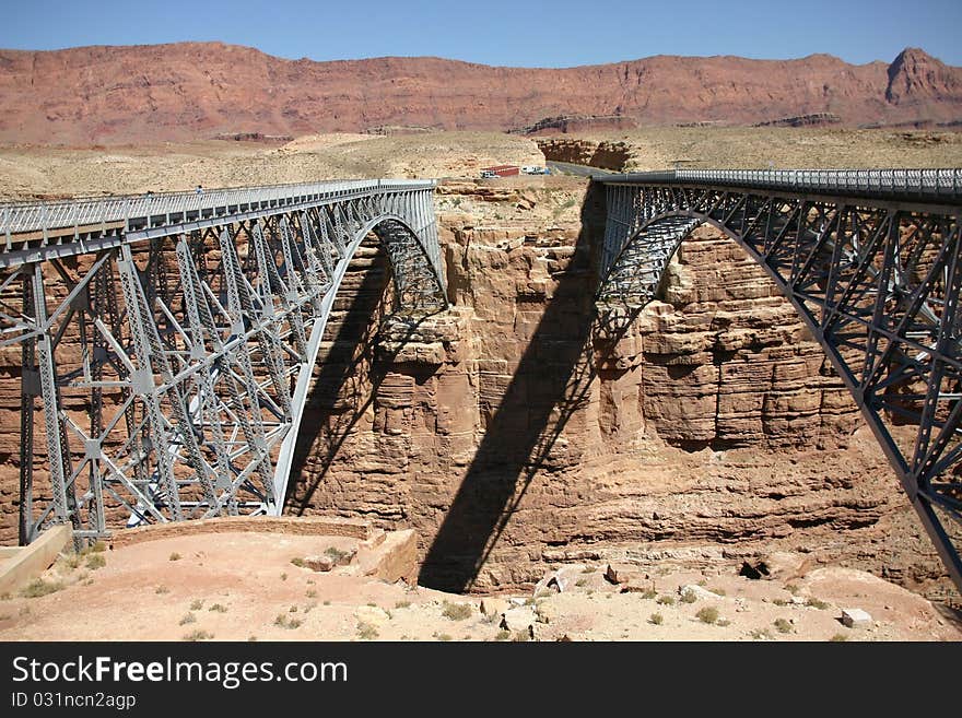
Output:
<instances>
[{"instance_id":1,"label":"broad dark diagonal bridge shadow on the central canyon wall","mask_svg":"<svg viewBox=\"0 0 962 718\"><path fill-rule=\"evenodd\" d=\"M536 475L567 466L553 449L572 415L587 407L595 376L591 248L603 231L599 200L603 188L593 184L575 252L554 275L554 292L427 551L422 586L470 590Z\"/></svg>"}]
</instances>

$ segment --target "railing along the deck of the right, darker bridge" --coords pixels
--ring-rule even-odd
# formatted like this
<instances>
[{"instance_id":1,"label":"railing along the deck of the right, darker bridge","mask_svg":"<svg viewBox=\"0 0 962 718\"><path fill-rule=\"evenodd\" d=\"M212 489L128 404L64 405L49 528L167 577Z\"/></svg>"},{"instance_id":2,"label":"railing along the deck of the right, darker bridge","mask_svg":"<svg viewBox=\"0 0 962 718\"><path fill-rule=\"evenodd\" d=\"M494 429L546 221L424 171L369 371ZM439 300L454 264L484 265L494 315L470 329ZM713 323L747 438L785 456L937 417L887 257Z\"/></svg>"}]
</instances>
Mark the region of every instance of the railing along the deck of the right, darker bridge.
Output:
<instances>
[{"instance_id":1,"label":"railing along the deck of the right, darker bridge","mask_svg":"<svg viewBox=\"0 0 962 718\"><path fill-rule=\"evenodd\" d=\"M962 199L962 168L941 169L672 169L595 175L603 184L708 185L923 201Z\"/></svg>"}]
</instances>

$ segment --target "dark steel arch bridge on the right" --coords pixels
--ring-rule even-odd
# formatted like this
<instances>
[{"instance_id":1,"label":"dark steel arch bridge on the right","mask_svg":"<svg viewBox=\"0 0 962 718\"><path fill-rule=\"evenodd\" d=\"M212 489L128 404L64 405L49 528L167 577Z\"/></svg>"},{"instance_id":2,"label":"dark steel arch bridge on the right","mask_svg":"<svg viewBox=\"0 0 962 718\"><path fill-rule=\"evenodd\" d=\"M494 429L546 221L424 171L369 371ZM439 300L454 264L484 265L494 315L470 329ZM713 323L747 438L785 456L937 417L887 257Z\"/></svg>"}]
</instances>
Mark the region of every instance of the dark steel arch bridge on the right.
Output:
<instances>
[{"instance_id":1,"label":"dark steel arch bridge on the right","mask_svg":"<svg viewBox=\"0 0 962 718\"><path fill-rule=\"evenodd\" d=\"M962 591L962 170L677 170L606 186L597 303L656 297L699 225L788 297L881 445Z\"/></svg>"}]
</instances>

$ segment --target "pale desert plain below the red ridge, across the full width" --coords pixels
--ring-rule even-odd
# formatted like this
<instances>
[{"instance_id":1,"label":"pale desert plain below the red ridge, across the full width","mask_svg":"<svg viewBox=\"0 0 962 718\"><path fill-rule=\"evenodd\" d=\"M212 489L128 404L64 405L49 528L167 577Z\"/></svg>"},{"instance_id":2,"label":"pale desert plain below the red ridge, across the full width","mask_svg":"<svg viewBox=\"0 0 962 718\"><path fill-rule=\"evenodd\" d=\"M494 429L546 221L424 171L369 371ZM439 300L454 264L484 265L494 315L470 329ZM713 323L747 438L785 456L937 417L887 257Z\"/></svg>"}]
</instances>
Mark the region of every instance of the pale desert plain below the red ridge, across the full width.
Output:
<instances>
[{"instance_id":1,"label":"pale desert plain below the red ridge, across the full width","mask_svg":"<svg viewBox=\"0 0 962 718\"><path fill-rule=\"evenodd\" d=\"M545 139L545 138L538 138ZM929 130L647 128L556 136L623 149L624 169L953 167L962 133ZM315 134L146 146L0 145L0 198L175 191L363 177L477 178L493 164L543 164L535 138L500 132ZM526 178L535 185L539 178Z\"/></svg>"}]
</instances>

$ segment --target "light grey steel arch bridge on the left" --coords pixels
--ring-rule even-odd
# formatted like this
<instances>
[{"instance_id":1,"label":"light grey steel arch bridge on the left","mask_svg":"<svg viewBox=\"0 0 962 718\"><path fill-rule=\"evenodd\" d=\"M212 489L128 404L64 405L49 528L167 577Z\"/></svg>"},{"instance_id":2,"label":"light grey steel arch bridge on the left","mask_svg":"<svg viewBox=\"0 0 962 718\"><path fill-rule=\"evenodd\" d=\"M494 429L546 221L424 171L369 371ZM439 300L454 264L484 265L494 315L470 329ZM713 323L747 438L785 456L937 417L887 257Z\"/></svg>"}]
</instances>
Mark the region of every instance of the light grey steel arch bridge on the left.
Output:
<instances>
[{"instance_id":1,"label":"light grey steel arch bridge on the left","mask_svg":"<svg viewBox=\"0 0 962 718\"><path fill-rule=\"evenodd\" d=\"M447 307L433 195L376 180L0 204L21 543L50 523L80 540L125 518L280 514L361 243L385 248L398 316Z\"/></svg>"}]
</instances>

